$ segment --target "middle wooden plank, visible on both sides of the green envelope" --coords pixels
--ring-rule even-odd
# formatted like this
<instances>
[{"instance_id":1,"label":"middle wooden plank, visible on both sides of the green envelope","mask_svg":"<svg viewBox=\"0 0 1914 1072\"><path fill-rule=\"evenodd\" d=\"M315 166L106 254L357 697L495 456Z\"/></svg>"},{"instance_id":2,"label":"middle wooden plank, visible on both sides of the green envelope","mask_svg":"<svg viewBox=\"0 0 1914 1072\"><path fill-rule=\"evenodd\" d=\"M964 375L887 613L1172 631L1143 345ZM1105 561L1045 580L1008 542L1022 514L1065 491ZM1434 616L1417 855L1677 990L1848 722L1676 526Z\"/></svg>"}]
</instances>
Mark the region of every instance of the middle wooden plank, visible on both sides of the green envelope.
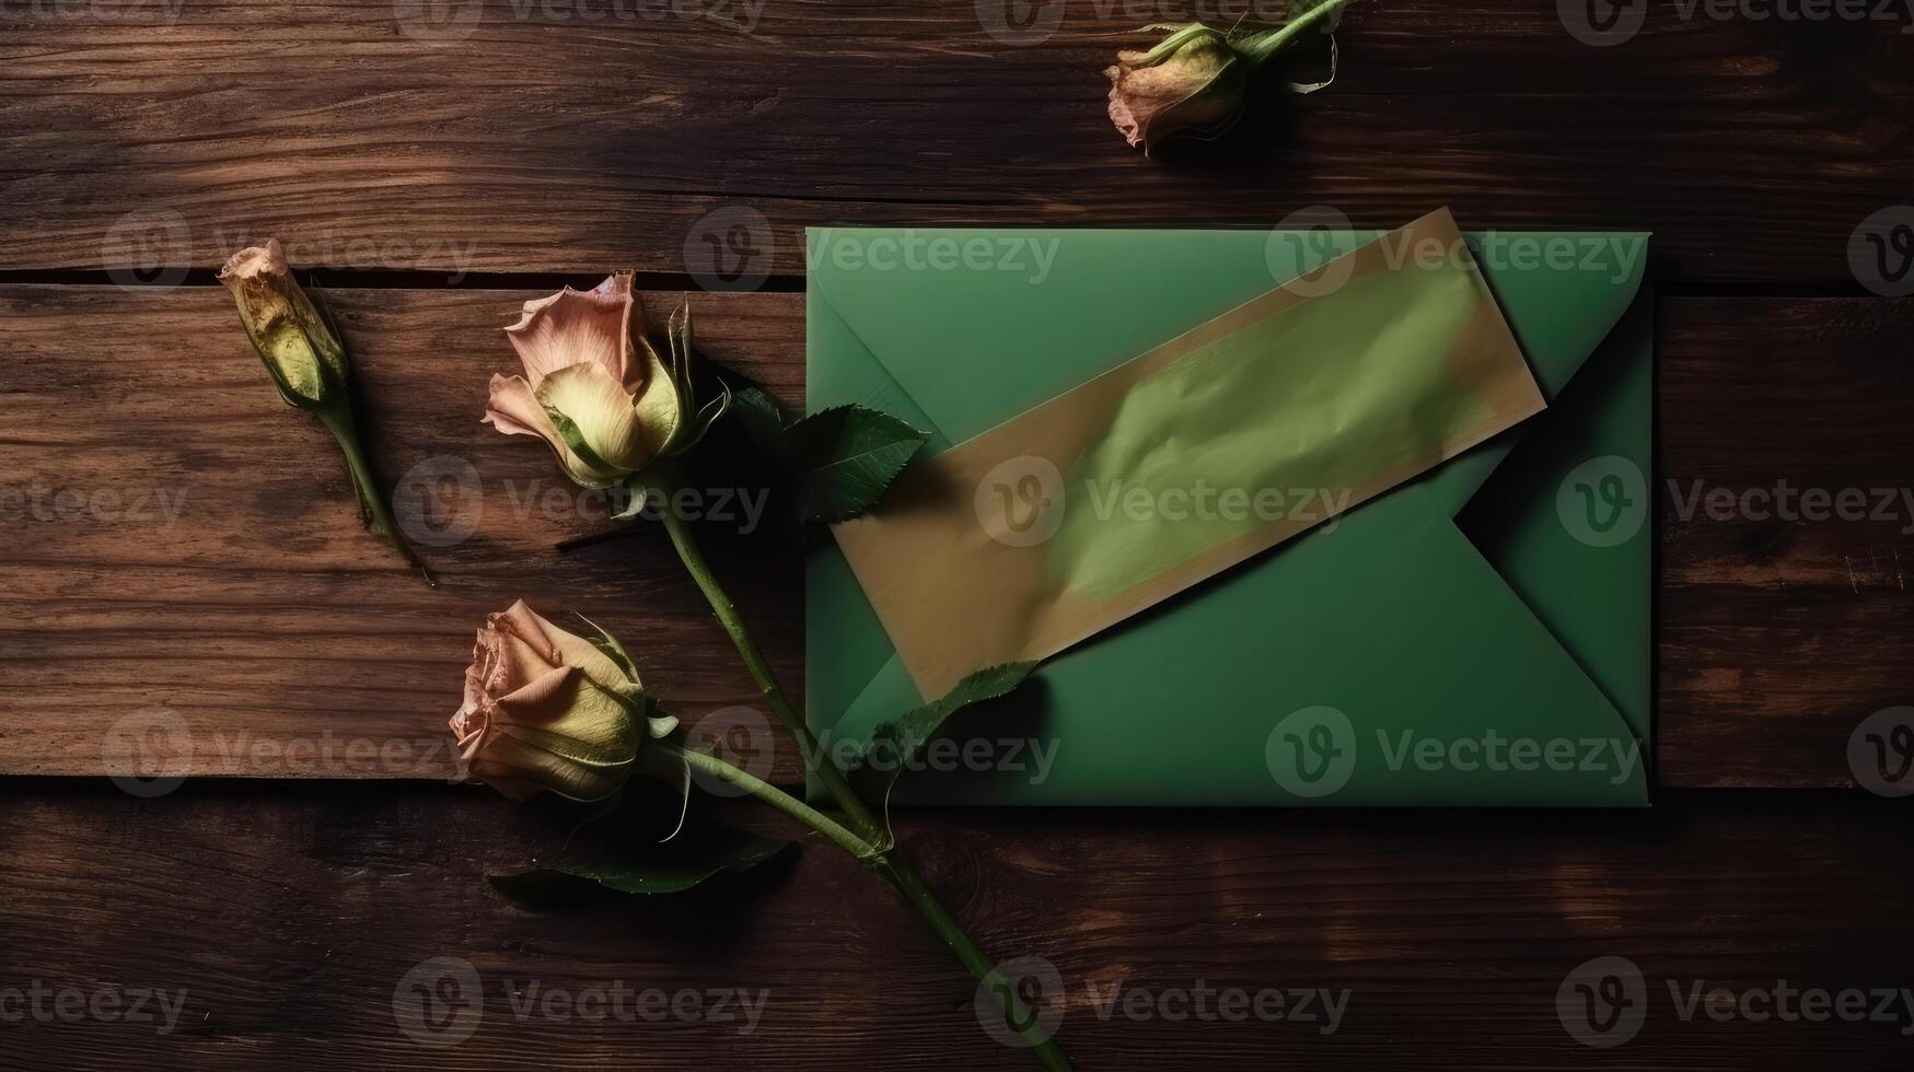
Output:
<instances>
[{"instance_id":1,"label":"middle wooden plank, visible on both sides of the green envelope","mask_svg":"<svg viewBox=\"0 0 1914 1072\"><path fill-rule=\"evenodd\" d=\"M159 710L184 720L197 775L446 777L471 630L519 595L620 634L687 714L748 706L662 534L555 551L616 526L542 446L478 425L486 377L515 362L498 325L524 297L331 295L402 517L469 526L423 547L434 592L358 528L331 442L276 400L222 289L0 289L0 773L100 773L153 722L121 720ZM676 297L647 306L658 318ZM697 310L716 360L800 404L800 295ZM1851 785L1857 724L1914 703L1914 471L1883 450L1914 425L1910 329L1914 301L1663 302L1659 785ZM421 465L450 475L431 511L406 477ZM1895 498L1855 521L1709 505L1782 480ZM101 492L119 513L92 515ZM128 517L142 492L170 496L176 519ZM725 538L737 526L706 526L714 555L796 689L798 551Z\"/></svg>"}]
</instances>

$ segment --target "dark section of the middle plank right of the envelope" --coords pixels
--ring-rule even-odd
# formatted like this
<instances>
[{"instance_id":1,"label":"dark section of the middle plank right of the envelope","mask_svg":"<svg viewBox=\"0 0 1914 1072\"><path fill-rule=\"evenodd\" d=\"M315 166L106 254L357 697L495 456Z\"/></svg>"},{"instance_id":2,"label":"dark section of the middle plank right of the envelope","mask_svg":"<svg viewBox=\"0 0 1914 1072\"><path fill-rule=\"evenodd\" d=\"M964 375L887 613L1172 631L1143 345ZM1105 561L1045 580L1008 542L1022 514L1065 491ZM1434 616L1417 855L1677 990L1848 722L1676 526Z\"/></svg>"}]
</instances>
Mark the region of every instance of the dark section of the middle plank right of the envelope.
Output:
<instances>
[{"instance_id":1,"label":"dark section of the middle plank right of the envelope","mask_svg":"<svg viewBox=\"0 0 1914 1072\"><path fill-rule=\"evenodd\" d=\"M1914 703L1910 331L1914 301L1667 302L1656 507L1673 783L1845 785L1860 720ZM1843 509L1864 494L1864 517L1834 515L1843 492Z\"/></svg>"}]
</instances>

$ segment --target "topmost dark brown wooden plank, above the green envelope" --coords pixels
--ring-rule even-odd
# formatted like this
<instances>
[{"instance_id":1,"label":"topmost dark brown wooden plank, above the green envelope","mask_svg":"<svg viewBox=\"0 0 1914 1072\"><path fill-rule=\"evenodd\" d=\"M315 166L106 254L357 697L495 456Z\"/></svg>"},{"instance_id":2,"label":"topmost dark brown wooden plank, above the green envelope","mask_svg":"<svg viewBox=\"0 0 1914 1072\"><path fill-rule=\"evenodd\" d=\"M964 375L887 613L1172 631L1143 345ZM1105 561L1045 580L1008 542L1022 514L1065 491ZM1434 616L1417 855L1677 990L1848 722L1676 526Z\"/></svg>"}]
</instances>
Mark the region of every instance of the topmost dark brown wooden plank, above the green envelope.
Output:
<instances>
[{"instance_id":1,"label":"topmost dark brown wooden plank, above the green envelope","mask_svg":"<svg viewBox=\"0 0 1914 1072\"><path fill-rule=\"evenodd\" d=\"M1885 6L1658 0L1591 48L1552 4L1370 2L1332 90L1213 151L1125 147L1114 50L1242 8L1035 4L1060 19L1020 46L986 27L1009 4L949 0L17 4L0 266L163 278L276 234L335 268L695 272L735 237L723 266L756 276L802 270L810 224L1254 228L1323 203L1393 228L1447 203L1470 228L1654 230L1686 279L1853 289L1849 235L1914 174Z\"/></svg>"}]
</instances>

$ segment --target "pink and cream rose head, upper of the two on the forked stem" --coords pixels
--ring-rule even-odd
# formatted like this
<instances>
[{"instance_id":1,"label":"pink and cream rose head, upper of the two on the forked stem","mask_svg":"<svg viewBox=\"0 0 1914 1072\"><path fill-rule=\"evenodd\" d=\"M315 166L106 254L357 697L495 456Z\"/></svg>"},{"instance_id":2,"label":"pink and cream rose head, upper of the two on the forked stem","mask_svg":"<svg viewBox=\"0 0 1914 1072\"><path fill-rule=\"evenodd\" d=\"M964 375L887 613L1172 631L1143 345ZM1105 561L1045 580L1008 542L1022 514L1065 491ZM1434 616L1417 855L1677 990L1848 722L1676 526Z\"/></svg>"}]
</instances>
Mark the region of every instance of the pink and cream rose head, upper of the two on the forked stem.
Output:
<instances>
[{"instance_id":1,"label":"pink and cream rose head, upper of the two on the forked stem","mask_svg":"<svg viewBox=\"0 0 1914 1072\"><path fill-rule=\"evenodd\" d=\"M727 389L697 408L691 310L672 316L666 364L645 337L632 272L584 293L565 287L524 302L505 337L524 375L492 375L484 419L505 435L544 438L565 473L588 488L609 488L653 459L683 454L731 400Z\"/></svg>"}]
</instances>

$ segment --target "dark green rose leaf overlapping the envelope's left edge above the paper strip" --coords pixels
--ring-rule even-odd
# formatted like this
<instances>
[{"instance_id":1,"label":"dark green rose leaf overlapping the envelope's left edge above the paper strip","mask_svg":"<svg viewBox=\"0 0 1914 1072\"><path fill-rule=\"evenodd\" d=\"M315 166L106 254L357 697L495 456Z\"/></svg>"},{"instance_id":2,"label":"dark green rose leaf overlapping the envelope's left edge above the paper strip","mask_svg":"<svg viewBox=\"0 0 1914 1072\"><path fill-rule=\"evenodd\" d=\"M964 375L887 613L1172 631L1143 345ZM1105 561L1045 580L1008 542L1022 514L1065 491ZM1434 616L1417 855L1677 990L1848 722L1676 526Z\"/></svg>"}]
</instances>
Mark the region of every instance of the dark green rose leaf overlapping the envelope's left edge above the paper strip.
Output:
<instances>
[{"instance_id":1,"label":"dark green rose leaf overlapping the envelope's left edge above the paper strip","mask_svg":"<svg viewBox=\"0 0 1914 1072\"><path fill-rule=\"evenodd\" d=\"M798 467L806 521L838 523L869 511L930 436L863 406L812 413L785 433Z\"/></svg>"}]
</instances>

